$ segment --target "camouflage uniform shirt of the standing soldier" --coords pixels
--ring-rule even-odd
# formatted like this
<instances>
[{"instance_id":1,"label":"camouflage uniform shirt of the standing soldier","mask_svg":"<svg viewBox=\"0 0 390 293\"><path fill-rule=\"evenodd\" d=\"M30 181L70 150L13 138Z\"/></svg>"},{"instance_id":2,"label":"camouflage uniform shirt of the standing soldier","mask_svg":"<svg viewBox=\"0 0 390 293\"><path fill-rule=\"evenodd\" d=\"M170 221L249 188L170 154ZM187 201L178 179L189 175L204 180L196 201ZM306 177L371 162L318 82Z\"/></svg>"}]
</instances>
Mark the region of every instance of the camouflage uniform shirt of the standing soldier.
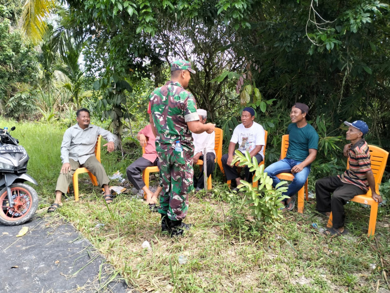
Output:
<instances>
[{"instance_id":1,"label":"camouflage uniform shirt of the standing soldier","mask_svg":"<svg viewBox=\"0 0 390 293\"><path fill-rule=\"evenodd\" d=\"M199 120L194 96L180 83L169 81L156 88L149 98L157 129L157 152L174 148L175 142L180 141L183 149L193 153L193 138L187 122Z\"/></svg>"}]
</instances>

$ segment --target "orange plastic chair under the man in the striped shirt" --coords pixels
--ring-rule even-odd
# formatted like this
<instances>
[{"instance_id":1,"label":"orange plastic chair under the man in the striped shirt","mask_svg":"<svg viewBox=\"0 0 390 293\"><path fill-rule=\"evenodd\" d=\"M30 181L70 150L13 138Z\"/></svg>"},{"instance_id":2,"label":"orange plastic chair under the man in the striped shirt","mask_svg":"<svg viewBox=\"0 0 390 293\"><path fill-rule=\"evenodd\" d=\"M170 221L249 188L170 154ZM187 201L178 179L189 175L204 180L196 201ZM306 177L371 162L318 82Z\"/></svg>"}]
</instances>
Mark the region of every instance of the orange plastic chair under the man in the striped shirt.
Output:
<instances>
[{"instance_id":1,"label":"orange plastic chair under the man in the striped shirt","mask_svg":"<svg viewBox=\"0 0 390 293\"><path fill-rule=\"evenodd\" d=\"M379 194L379 184L382 181L382 176L385 171L386 162L389 157L389 152L378 147L368 145L369 153L371 155L371 170L374 174L375 180L375 192ZM347 163L347 169L349 168L349 162ZM371 206L368 222L368 237L375 234L376 217L378 215L378 203L372 199L371 189L368 189L366 194L356 195L350 201L365 204ZM327 227L332 227L332 213L330 213Z\"/></svg>"}]
</instances>

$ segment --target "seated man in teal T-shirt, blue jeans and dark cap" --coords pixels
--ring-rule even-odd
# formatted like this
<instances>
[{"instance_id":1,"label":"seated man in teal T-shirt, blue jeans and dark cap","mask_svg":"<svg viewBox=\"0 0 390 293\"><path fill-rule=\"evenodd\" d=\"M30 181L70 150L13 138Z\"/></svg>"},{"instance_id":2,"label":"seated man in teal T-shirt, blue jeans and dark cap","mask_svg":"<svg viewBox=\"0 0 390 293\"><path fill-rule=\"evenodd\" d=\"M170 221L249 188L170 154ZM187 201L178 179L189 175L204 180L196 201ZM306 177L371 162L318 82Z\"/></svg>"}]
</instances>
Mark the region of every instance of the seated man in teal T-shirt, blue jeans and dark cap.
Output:
<instances>
[{"instance_id":1,"label":"seated man in teal T-shirt, blue jeans and dark cap","mask_svg":"<svg viewBox=\"0 0 390 293\"><path fill-rule=\"evenodd\" d=\"M315 160L318 149L318 134L313 126L306 122L310 119L309 107L302 103L295 103L290 112L291 124L288 126L289 135L286 157L268 167L264 172L272 178L273 186L279 182L276 175L280 173L293 173L294 180L288 186L284 195L289 196L284 205L287 210L294 209L295 194L303 187L310 173L310 164Z\"/></svg>"}]
</instances>

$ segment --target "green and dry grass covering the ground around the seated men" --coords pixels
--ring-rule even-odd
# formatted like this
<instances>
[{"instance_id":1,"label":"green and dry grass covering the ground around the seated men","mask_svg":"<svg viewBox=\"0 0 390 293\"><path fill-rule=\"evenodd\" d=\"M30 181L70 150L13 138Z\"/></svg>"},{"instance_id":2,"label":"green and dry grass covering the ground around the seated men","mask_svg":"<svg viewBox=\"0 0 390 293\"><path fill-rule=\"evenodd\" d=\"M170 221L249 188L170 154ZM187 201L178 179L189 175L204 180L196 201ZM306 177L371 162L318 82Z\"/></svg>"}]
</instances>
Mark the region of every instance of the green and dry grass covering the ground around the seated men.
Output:
<instances>
[{"instance_id":1,"label":"green and dry grass covering the ground around the seated men","mask_svg":"<svg viewBox=\"0 0 390 293\"><path fill-rule=\"evenodd\" d=\"M0 119L0 125L3 122ZM14 135L29 152L29 173L40 183L36 189L46 207L54 198L65 129L15 125ZM139 155L130 142L124 161L119 152L102 151L102 162L108 174L118 169L125 174ZM314 199L305 202L303 214L285 213L278 229L253 230L250 221L239 229L230 225L228 188L217 176L211 192L190 195L186 222L194 228L185 237L171 239L160 232L159 214L151 213L139 198L123 193L107 206L99 188L93 188L87 176L80 178L80 201L74 202L71 194L60 213L134 292L390 292L384 277L390 267L388 208L380 209L373 239L367 237L369 209L355 203L346 206L350 235L320 234L311 224L323 227L327 219L315 212ZM53 219L46 213L43 217ZM141 247L144 241L151 251ZM179 257L186 263L180 265Z\"/></svg>"}]
</instances>

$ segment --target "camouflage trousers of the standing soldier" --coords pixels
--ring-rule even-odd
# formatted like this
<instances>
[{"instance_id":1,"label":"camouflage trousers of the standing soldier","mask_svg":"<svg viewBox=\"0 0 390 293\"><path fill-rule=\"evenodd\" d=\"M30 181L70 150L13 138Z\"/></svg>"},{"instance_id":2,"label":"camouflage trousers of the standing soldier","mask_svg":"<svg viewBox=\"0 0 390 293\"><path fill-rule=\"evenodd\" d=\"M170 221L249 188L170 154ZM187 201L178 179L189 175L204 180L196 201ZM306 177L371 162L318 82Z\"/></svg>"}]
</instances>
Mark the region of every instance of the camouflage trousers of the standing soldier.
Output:
<instances>
[{"instance_id":1,"label":"camouflage trousers of the standing soldier","mask_svg":"<svg viewBox=\"0 0 390 293\"><path fill-rule=\"evenodd\" d=\"M192 154L168 149L157 151L157 155L161 163L160 186L163 187L158 212L173 221L183 220L188 210L188 193L194 189Z\"/></svg>"}]
</instances>

